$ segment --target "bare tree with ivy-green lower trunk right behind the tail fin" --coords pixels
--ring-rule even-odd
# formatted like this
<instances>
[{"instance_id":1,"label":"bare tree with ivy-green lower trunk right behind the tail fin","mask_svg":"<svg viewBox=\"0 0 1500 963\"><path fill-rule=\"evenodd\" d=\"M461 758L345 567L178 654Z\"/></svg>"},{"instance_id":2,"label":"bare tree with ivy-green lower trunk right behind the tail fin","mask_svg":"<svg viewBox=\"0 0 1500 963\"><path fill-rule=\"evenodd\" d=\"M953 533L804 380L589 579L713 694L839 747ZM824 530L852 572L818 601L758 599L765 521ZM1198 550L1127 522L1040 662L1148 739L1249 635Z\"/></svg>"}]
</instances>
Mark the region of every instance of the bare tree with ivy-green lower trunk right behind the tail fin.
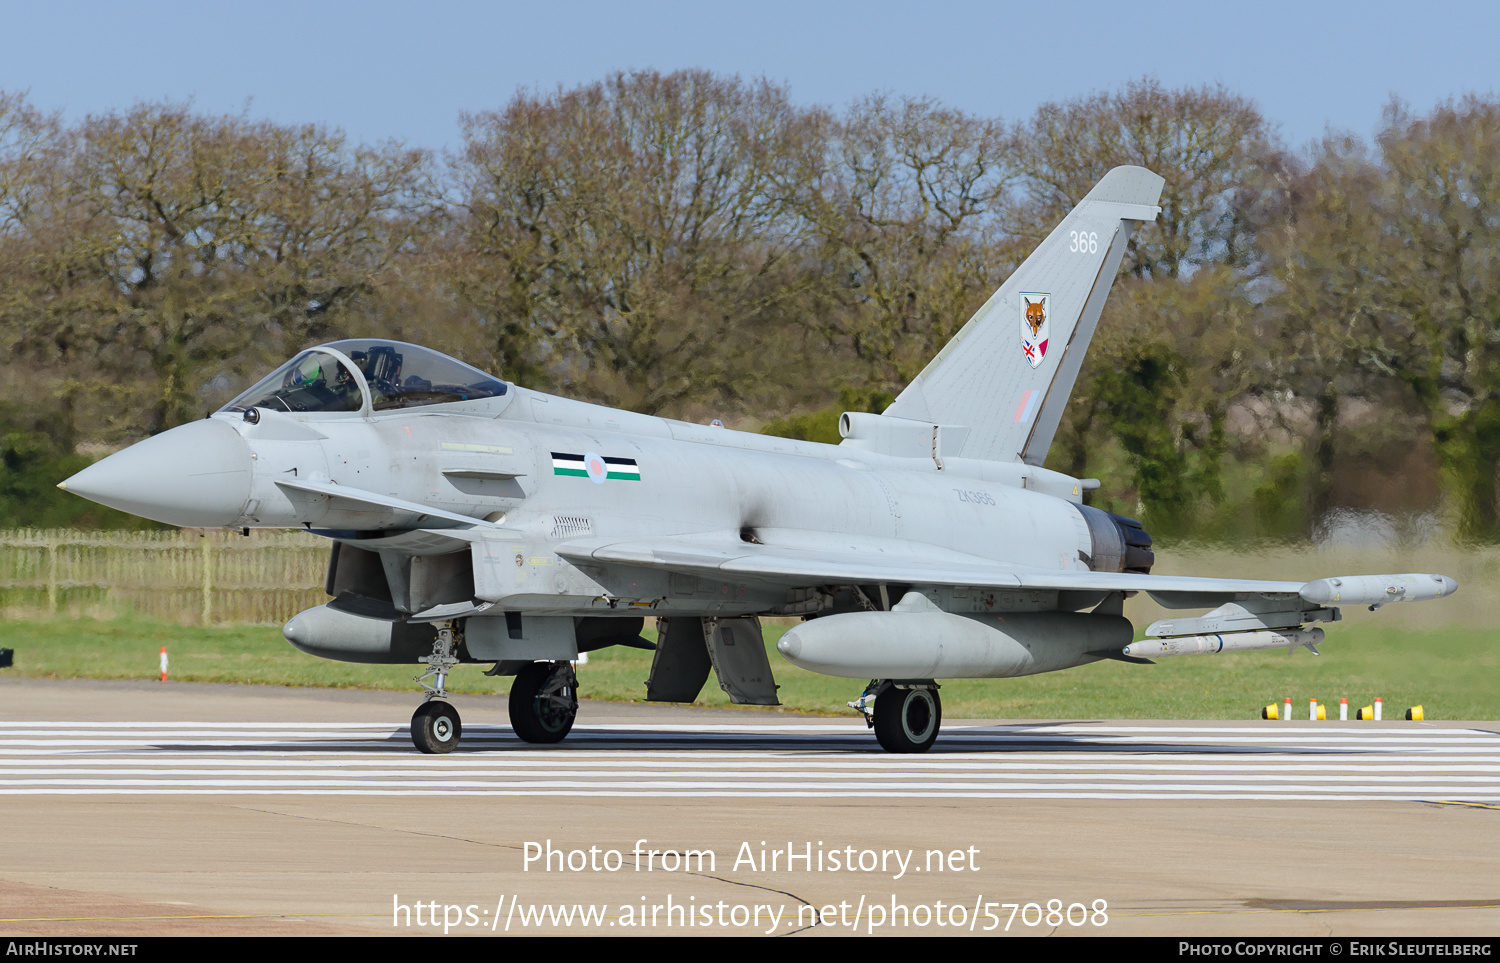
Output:
<instances>
[{"instance_id":1,"label":"bare tree with ivy-green lower trunk right behind the tail fin","mask_svg":"<svg viewBox=\"0 0 1500 963\"><path fill-rule=\"evenodd\" d=\"M1016 140L1028 195L1020 230L1036 236L1024 225L1054 222L1118 165L1167 182L1156 222L1126 246L1120 272L1131 284L1106 304L1052 458L1083 474L1089 452L1113 436L1146 512L1185 525L1200 498L1222 496L1228 410L1272 382L1251 288L1264 260L1257 238L1284 196L1286 159L1252 102L1224 87L1167 90L1150 78L1046 104ZM1160 394L1146 405L1125 390L1122 372Z\"/></svg>"}]
</instances>

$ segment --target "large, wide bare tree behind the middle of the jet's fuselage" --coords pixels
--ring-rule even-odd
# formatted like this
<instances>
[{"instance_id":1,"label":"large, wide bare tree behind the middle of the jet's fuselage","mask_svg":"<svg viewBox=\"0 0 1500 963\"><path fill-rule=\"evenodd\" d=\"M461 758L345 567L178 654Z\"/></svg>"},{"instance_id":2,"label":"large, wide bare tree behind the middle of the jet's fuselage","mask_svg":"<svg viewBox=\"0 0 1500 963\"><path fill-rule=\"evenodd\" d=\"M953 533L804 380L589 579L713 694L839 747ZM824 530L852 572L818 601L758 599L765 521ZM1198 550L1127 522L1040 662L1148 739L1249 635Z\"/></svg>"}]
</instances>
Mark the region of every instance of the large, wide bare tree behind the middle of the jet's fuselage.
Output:
<instances>
[{"instance_id":1,"label":"large, wide bare tree behind the middle of the jet's fuselage","mask_svg":"<svg viewBox=\"0 0 1500 963\"><path fill-rule=\"evenodd\" d=\"M784 88L702 70L466 117L459 285L495 360L650 412L784 372L812 278L789 204L810 135Z\"/></svg>"}]
</instances>

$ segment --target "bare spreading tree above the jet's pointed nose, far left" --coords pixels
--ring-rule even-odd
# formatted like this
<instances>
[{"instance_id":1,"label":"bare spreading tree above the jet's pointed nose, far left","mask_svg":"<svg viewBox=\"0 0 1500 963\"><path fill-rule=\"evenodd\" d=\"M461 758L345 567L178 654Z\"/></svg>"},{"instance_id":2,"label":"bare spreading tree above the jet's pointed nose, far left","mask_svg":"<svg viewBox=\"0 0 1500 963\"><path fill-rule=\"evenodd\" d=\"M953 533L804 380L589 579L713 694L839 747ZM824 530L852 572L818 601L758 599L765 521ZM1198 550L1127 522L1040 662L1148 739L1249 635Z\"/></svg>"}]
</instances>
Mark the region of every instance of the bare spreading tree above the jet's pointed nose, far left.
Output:
<instances>
[{"instance_id":1,"label":"bare spreading tree above the jet's pointed nose, far left","mask_svg":"<svg viewBox=\"0 0 1500 963\"><path fill-rule=\"evenodd\" d=\"M90 117L63 165L69 231L36 254L20 342L144 380L158 432L201 414L218 369L340 330L417 230L424 156L148 104Z\"/></svg>"}]
</instances>

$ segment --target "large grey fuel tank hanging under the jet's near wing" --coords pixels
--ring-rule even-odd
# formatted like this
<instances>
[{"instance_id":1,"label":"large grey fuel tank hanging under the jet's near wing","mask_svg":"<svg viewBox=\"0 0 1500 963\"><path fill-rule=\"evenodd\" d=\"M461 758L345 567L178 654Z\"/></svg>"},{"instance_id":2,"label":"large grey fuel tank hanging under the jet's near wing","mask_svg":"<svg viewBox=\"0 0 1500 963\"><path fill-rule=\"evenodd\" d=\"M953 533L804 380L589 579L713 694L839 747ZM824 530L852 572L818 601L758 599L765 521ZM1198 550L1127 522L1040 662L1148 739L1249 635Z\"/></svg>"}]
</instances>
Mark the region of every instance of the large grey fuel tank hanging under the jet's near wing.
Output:
<instances>
[{"instance_id":1,"label":"large grey fuel tank hanging under the jet's near wing","mask_svg":"<svg viewBox=\"0 0 1500 963\"><path fill-rule=\"evenodd\" d=\"M776 650L794 666L842 678L1008 678L1098 662L1130 638L1130 622L1116 615L954 615L908 592L890 612L802 622Z\"/></svg>"}]
</instances>

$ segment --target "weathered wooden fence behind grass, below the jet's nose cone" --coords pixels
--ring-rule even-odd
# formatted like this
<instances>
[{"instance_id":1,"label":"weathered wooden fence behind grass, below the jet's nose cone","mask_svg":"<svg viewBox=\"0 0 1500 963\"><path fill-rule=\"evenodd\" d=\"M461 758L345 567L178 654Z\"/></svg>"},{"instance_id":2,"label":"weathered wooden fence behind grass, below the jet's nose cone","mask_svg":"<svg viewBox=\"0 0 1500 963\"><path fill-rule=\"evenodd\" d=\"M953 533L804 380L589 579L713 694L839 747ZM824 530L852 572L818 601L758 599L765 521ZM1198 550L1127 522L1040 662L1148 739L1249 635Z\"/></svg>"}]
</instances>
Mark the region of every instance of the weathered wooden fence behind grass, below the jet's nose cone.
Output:
<instances>
[{"instance_id":1,"label":"weathered wooden fence behind grass, below the jet's nose cone","mask_svg":"<svg viewBox=\"0 0 1500 963\"><path fill-rule=\"evenodd\" d=\"M327 602L327 567L328 542L303 532L9 530L0 531L0 610L284 622Z\"/></svg>"}]
</instances>

